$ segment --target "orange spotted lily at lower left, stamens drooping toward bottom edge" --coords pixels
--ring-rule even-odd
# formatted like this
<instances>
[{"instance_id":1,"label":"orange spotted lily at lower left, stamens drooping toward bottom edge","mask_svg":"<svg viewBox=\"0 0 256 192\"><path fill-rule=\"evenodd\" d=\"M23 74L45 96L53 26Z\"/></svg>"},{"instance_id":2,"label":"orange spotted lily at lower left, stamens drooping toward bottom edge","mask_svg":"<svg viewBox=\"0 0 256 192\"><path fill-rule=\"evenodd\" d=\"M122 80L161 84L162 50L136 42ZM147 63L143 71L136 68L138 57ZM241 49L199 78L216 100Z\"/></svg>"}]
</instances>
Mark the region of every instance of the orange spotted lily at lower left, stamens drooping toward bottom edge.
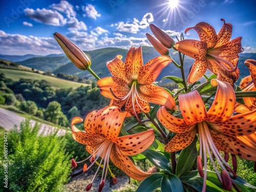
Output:
<instances>
[{"instance_id":1,"label":"orange spotted lily at lower left, stamens drooping toward bottom edge","mask_svg":"<svg viewBox=\"0 0 256 192\"><path fill-rule=\"evenodd\" d=\"M109 159L111 159L115 166L123 170L123 172L133 179L141 181L151 175L137 168L127 155L136 155L146 150L155 139L154 130L118 137L126 113L121 112L116 106L106 106L99 111L93 111L84 120L85 131L79 131L74 125L75 123L82 122L83 120L81 118L75 117L72 119L73 138L77 142L87 145L86 150L91 154L87 159L90 159L92 164L86 167L86 170L101 157L99 167L103 165L103 171L99 191L104 186L104 181L108 173ZM98 173L99 167L95 176ZM87 189L91 188L93 180L87 186Z\"/></svg>"}]
</instances>

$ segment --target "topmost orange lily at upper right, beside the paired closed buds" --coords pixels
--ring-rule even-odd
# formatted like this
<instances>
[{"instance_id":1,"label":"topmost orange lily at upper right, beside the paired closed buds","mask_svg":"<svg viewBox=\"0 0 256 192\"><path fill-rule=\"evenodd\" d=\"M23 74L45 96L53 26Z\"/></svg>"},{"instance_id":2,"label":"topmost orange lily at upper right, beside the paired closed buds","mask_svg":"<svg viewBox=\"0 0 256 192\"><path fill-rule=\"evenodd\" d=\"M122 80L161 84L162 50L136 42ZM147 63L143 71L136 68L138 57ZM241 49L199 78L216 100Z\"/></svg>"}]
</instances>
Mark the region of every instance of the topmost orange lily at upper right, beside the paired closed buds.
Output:
<instances>
[{"instance_id":1,"label":"topmost orange lily at upper right, beside the paired closed buds","mask_svg":"<svg viewBox=\"0 0 256 192\"><path fill-rule=\"evenodd\" d=\"M229 41L232 25L225 23L224 19L221 20L224 24L218 35L211 25L201 22L185 30L185 33L190 29L196 30L200 41L185 39L176 43L175 48L178 51L196 59L188 75L189 83L201 78L207 69L216 75L220 74L220 80L231 85L237 81L238 54L243 51L242 37Z\"/></svg>"}]
</instances>

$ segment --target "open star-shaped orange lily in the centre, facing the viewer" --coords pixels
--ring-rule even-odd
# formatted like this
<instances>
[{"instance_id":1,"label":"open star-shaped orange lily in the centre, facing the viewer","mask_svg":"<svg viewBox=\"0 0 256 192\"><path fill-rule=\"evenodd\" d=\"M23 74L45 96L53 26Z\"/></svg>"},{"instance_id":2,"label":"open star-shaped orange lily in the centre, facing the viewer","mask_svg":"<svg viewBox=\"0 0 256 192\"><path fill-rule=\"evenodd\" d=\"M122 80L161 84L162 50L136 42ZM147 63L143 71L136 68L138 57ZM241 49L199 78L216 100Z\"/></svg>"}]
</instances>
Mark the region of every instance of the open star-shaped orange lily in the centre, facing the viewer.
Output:
<instances>
[{"instance_id":1,"label":"open star-shaped orange lily in the centre, facing the viewer","mask_svg":"<svg viewBox=\"0 0 256 192\"><path fill-rule=\"evenodd\" d=\"M149 112L148 102L166 106L173 109L175 101L163 88L152 84L162 69L172 59L167 56L158 56L148 61L143 66L141 46L132 47L123 62L118 55L106 63L113 77L105 77L98 80L100 93L111 100L110 105L125 105L125 111L132 115L140 112Z\"/></svg>"}]
</instances>

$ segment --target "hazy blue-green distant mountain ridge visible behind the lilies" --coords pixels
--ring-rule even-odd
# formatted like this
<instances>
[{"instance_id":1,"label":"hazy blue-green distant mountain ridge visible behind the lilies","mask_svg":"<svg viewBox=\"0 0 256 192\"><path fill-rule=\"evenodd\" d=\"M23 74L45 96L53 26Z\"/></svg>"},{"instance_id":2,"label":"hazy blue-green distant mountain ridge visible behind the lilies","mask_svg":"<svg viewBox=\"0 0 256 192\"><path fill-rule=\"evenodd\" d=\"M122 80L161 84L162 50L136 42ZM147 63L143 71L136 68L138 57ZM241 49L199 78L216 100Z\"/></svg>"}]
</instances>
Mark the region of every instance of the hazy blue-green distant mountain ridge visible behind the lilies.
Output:
<instances>
[{"instance_id":1,"label":"hazy blue-green distant mountain ridge visible behind the lilies","mask_svg":"<svg viewBox=\"0 0 256 192\"><path fill-rule=\"evenodd\" d=\"M92 70L99 76L99 77L107 77L111 76L108 68L106 67L106 62L114 59L117 55L122 55L122 60L125 59L128 50L119 49L119 48L104 48L98 49L94 51L85 51L88 57L91 59L92 62ZM179 55L174 50L169 50L170 56L176 61L179 62ZM142 47L142 56L144 64L151 60L152 58L159 56L159 53L153 47ZM15 56L16 57L16 56ZM0 55L1 58L1 55ZM23 57L24 58L24 57ZM249 71L247 67L244 65L244 61L246 59L256 59L256 53L241 53L239 58L239 69L240 69L240 79L249 75ZM11 59L9 59L11 60ZM21 60L21 59L20 59ZM194 63L193 58L185 56L185 64L184 70L185 75L187 77L190 66ZM93 76L88 71L81 71L77 69L72 62L68 59L65 54L51 54L47 56L39 56L39 57L30 57L29 59L23 61L17 61L20 65L24 65L30 68L34 68L36 70L51 72L54 74L58 73L66 73L70 75L77 75L79 77L83 77L86 79L93 79ZM207 72L206 75L209 75L210 72ZM181 77L180 70L174 66L173 63L170 63L167 67L159 75L157 81L161 80L162 77L172 75ZM168 82L165 80L164 82Z\"/></svg>"}]
</instances>

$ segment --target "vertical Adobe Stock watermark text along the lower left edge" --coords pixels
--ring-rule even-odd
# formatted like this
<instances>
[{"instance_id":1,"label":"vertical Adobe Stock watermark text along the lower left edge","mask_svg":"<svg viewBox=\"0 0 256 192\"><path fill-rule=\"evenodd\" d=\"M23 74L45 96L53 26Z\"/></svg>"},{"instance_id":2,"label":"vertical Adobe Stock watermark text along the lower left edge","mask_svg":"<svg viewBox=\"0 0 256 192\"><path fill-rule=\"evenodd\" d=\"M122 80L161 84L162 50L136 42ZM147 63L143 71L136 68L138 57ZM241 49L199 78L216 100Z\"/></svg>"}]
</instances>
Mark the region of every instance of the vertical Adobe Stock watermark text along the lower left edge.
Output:
<instances>
[{"instance_id":1,"label":"vertical Adobe Stock watermark text along the lower left edge","mask_svg":"<svg viewBox=\"0 0 256 192\"><path fill-rule=\"evenodd\" d=\"M4 133L4 187L8 188L8 133Z\"/></svg>"}]
</instances>

